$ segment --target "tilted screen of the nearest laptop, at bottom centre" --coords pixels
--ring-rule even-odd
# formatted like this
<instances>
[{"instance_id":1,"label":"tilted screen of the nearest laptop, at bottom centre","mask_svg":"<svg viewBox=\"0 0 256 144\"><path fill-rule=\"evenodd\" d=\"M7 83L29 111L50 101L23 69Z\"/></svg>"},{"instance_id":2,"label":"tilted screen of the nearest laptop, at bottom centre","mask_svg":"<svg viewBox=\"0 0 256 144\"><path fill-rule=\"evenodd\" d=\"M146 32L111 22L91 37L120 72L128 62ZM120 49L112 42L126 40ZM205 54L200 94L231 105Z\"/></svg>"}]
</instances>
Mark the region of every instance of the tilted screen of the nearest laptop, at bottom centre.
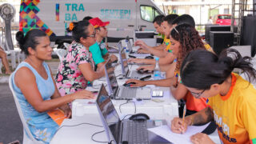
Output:
<instances>
[{"instance_id":1,"label":"tilted screen of the nearest laptop, at bottom centre","mask_svg":"<svg viewBox=\"0 0 256 144\"><path fill-rule=\"evenodd\" d=\"M111 102L109 95L106 92L105 86L101 86L98 92L98 98L96 100L99 112L102 114L104 120L103 125L107 125L111 134L114 136L115 141L118 141L118 123L120 119L117 111L114 109L114 105ZM106 129L106 127L105 127ZM106 131L108 134L108 131Z\"/></svg>"}]
</instances>

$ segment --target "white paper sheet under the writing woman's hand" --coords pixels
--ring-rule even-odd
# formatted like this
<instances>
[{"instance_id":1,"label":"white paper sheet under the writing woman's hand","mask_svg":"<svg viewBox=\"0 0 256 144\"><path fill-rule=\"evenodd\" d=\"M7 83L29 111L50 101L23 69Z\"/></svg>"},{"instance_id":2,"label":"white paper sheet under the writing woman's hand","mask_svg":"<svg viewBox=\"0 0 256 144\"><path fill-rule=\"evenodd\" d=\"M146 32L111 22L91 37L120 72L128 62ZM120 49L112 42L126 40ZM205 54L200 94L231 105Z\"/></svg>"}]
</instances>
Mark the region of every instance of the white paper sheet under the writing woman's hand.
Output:
<instances>
[{"instance_id":1,"label":"white paper sheet under the writing woman's hand","mask_svg":"<svg viewBox=\"0 0 256 144\"><path fill-rule=\"evenodd\" d=\"M210 122L203 126L188 126L185 134L176 134L172 132L170 127L166 125L150 128L148 130L174 144L186 144L192 143L190 142L190 137L194 134L201 133L202 130L205 130L209 124Z\"/></svg>"}]
</instances>

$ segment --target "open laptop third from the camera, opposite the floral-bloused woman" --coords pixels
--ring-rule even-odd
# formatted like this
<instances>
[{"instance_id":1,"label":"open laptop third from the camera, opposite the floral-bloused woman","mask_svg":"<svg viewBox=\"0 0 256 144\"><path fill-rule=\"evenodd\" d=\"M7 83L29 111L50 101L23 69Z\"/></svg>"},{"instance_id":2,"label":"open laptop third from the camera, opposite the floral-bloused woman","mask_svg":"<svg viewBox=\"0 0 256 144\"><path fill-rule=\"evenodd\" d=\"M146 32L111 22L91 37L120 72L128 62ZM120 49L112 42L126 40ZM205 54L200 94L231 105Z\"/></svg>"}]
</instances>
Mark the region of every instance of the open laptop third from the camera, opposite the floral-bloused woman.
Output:
<instances>
[{"instance_id":1,"label":"open laptop third from the camera, opposite the floral-bloused woman","mask_svg":"<svg viewBox=\"0 0 256 144\"><path fill-rule=\"evenodd\" d=\"M125 78L142 78L145 77L146 75L150 75L153 73L147 73L147 74L140 74L138 73L138 70L129 70L127 58L126 58L126 53L125 50L119 50L119 59L121 62L121 68L122 68L122 75Z\"/></svg>"}]
</instances>

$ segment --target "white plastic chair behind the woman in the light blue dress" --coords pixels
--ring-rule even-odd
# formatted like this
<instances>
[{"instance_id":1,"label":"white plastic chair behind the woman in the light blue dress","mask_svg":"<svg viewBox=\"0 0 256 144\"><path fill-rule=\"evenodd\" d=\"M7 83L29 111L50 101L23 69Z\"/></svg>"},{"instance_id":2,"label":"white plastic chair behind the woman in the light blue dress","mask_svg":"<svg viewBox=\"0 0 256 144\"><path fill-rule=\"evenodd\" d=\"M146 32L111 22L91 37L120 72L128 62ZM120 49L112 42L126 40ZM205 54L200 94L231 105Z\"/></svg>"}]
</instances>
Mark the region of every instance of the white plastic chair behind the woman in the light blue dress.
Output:
<instances>
[{"instance_id":1,"label":"white plastic chair behind the woman in the light blue dress","mask_svg":"<svg viewBox=\"0 0 256 144\"><path fill-rule=\"evenodd\" d=\"M32 135L31 132L30 132L29 127L26 125L26 120L25 120L25 118L24 118L24 116L23 116L23 114L22 114L21 106L20 106L20 104L19 104L19 102L18 102L18 98L16 97L16 94L14 93L14 86L13 86L13 82L12 82L13 74L14 74L14 73L10 74L10 78L9 78L9 87L10 87L11 93L12 93L13 96L14 96L14 102L15 102L16 108L17 108L17 110L18 110L19 118L21 118L21 121L22 121L23 131L24 131L24 133L26 132L27 136L30 138L31 141L33 141L34 144L42 144L42 142L37 141L37 140L33 137L33 135ZM25 143L25 142L23 141L23 143Z\"/></svg>"}]
</instances>

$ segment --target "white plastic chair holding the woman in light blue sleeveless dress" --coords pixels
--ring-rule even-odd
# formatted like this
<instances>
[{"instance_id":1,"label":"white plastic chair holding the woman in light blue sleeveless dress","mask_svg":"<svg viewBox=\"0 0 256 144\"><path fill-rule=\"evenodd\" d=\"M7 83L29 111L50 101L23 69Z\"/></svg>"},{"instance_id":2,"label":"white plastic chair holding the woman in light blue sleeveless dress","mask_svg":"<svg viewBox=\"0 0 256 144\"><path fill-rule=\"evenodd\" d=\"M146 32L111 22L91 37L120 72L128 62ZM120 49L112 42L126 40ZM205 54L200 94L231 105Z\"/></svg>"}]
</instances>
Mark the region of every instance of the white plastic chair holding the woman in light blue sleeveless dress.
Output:
<instances>
[{"instance_id":1,"label":"white plastic chair holding the woman in light blue sleeveless dress","mask_svg":"<svg viewBox=\"0 0 256 144\"><path fill-rule=\"evenodd\" d=\"M10 74L9 87L10 87L10 90L11 90L13 96L14 96L14 102L15 102L15 105L16 105L17 110L18 110L19 118L21 118L21 121L22 121L22 126L23 126L23 144L43 144L43 142L37 141L33 137L33 135L30 133L29 127L26 125L26 120L25 120L25 118L24 118L24 116L22 114L21 106L20 106L20 104L18 102L18 98L16 97L16 94L14 93L12 77L13 77L13 74Z\"/></svg>"}]
</instances>

